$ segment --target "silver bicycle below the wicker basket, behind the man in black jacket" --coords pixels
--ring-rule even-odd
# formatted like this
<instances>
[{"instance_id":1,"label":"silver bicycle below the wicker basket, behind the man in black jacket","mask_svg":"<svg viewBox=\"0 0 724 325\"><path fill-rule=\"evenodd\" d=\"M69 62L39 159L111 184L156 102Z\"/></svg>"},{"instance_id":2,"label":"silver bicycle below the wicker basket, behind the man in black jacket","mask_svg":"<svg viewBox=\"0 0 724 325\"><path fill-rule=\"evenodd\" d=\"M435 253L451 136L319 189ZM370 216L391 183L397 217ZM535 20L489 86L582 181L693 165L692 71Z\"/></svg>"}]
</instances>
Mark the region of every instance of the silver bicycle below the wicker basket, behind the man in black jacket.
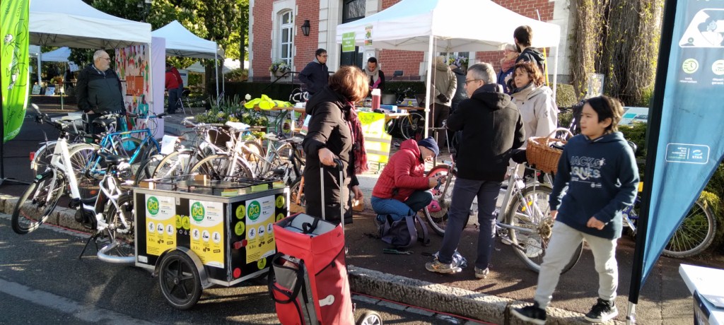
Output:
<instances>
[{"instance_id":1,"label":"silver bicycle below the wicker basket, behind the man in black jacket","mask_svg":"<svg viewBox=\"0 0 724 325\"><path fill-rule=\"evenodd\" d=\"M515 255L529 269L537 272L540 270L540 264L552 235L553 219L550 217L550 206L548 206L552 187L535 180L526 183L523 177L515 173L517 169L518 164L508 168L508 185L502 203L496 211L496 233L503 243L513 246ZM456 173L455 159L452 159L449 166L440 164L428 172L428 177L439 177L444 180L433 188L433 199L437 201L441 210L436 213L431 213L429 208L423 210L429 224L438 235L445 234L447 207L452 201L451 192L455 186ZM576 253L561 274L573 268L582 253L583 242L578 245Z\"/></svg>"}]
</instances>

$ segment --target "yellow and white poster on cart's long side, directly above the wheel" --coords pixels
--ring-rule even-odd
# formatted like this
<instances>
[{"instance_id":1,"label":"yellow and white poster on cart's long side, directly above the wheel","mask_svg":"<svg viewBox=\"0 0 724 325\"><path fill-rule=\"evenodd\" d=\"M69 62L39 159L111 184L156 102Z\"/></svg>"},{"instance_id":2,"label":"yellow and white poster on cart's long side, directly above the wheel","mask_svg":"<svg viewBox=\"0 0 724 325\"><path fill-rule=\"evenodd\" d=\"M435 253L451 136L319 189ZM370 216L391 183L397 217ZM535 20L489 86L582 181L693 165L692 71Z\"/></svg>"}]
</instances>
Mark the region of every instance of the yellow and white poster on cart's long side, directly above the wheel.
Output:
<instances>
[{"instance_id":1,"label":"yellow and white poster on cart's long side, directly above the wheel","mask_svg":"<svg viewBox=\"0 0 724 325\"><path fill-rule=\"evenodd\" d=\"M224 267L224 203L189 200L190 248L203 265Z\"/></svg>"}]
</instances>

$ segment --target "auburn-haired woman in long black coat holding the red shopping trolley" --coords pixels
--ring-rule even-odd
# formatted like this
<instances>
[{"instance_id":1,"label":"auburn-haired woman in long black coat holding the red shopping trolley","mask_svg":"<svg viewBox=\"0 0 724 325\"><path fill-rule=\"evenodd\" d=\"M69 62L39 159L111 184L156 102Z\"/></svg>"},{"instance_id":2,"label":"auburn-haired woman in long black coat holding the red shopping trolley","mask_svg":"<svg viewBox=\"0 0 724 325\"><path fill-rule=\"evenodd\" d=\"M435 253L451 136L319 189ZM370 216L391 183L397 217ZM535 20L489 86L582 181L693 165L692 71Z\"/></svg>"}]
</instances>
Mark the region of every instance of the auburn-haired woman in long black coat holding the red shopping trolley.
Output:
<instances>
[{"instance_id":1,"label":"auburn-haired woman in long black coat holding the red shopping trolley","mask_svg":"<svg viewBox=\"0 0 724 325\"><path fill-rule=\"evenodd\" d=\"M335 168L324 169L326 219L337 224L340 222L340 198L343 198L345 224L351 223L350 190L355 200L363 199L356 174L366 171L367 158L354 103L367 96L367 81L367 76L358 67L341 67L329 77L329 85L306 104L306 113L311 115L311 120L302 145L307 157L304 196L306 213L310 216L321 217L319 166L334 166L334 159L342 161L345 181L340 188L340 172Z\"/></svg>"}]
</instances>

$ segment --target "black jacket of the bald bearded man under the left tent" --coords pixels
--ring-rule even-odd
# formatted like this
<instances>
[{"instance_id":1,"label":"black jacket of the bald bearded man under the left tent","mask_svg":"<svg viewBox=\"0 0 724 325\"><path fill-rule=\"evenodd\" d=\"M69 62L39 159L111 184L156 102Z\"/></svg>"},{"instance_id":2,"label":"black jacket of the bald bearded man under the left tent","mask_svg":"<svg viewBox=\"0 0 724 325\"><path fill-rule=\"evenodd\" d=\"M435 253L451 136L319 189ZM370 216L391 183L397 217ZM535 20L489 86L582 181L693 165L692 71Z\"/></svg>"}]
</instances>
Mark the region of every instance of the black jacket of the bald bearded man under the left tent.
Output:
<instances>
[{"instance_id":1,"label":"black jacket of the bald bearded man under the left tent","mask_svg":"<svg viewBox=\"0 0 724 325\"><path fill-rule=\"evenodd\" d=\"M78 75L75 96L81 111L121 111L123 96L121 80L113 69L101 72L90 64Z\"/></svg>"}]
</instances>

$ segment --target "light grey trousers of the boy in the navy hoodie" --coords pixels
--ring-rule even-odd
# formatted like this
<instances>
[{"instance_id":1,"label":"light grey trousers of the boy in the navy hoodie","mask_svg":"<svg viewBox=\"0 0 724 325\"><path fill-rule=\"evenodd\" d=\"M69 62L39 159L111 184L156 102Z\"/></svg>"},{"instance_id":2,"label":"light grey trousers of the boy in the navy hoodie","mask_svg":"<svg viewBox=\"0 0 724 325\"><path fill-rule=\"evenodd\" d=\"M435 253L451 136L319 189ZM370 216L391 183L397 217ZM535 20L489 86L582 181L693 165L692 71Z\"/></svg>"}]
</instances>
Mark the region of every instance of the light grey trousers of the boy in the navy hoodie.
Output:
<instances>
[{"instance_id":1,"label":"light grey trousers of the boy in the navy hoodie","mask_svg":"<svg viewBox=\"0 0 724 325\"><path fill-rule=\"evenodd\" d=\"M588 242L593 253L594 264L598 272L598 296L603 300L613 300L618 288L618 263L616 262L616 240L596 237L568 227L555 221L553 233L543 257L541 271L538 274L538 287L534 300L545 309L553 297L558 284L560 271L571 261L573 253L581 240Z\"/></svg>"}]
</instances>

